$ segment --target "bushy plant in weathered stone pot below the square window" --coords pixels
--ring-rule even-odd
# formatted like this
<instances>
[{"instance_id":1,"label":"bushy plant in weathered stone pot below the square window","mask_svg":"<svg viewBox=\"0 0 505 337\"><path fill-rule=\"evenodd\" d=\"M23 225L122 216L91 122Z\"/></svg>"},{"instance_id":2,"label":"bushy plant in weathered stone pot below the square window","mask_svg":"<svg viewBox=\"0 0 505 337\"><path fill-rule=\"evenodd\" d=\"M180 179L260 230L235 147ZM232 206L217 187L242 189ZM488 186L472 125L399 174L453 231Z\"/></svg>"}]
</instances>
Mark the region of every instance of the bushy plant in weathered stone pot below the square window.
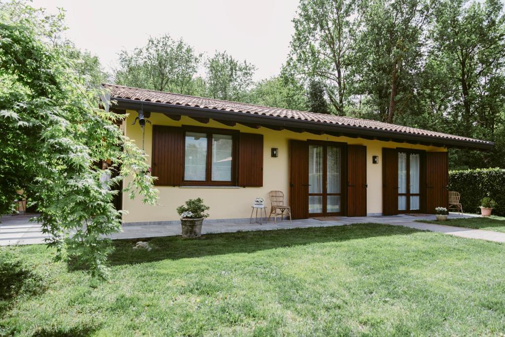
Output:
<instances>
[{"instance_id":1,"label":"bushy plant in weathered stone pot below the square window","mask_svg":"<svg viewBox=\"0 0 505 337\"><path fill-rule=\"evenodd\" d=\"M210 209L204 205L201 198L189 199L185 205L177 207L177 213L181 216L182 237L199 237L201 235L201 225L204 219L209 216L205 213Z\"/></svg>"}]
</instances>

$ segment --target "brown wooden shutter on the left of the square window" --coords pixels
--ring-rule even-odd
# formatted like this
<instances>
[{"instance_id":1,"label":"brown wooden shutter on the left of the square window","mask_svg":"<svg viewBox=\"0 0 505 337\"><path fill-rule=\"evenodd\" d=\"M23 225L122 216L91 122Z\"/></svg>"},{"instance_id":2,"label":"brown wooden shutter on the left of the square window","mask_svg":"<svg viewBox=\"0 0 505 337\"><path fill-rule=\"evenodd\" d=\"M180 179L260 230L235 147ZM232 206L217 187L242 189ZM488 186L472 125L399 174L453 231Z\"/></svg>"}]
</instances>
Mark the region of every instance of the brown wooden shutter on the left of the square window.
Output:
<instances>
[{"instance_id":1,"label":"brown wooden shutter on the left of the square window","mask_svg":"<svg viewBox=\"0 0 505 337\"><path fill-rule=\"evenodd\" d=\"M182 128L153 125L153 172L157 186L179 186L184 167Z\"/></svg>"}]
</instances>

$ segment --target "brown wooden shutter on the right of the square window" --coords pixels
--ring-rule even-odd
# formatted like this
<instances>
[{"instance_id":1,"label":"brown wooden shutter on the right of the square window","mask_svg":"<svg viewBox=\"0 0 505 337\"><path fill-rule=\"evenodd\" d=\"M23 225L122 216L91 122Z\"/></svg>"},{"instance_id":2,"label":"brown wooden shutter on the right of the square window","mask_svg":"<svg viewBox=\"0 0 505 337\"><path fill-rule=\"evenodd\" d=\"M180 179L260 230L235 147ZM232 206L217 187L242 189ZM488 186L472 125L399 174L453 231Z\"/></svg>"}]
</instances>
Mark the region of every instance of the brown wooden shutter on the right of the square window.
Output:
<instances>
[{"instance_id":1,"label":"brown wooden shutter on the right of the square window","mask_svg":"<svg viewBox=\"0 0 505 337\"><path fill-rule=\"evenodd\" d=\"M263 135L240 133L238 137L238 185L263 186Z\"/></svg>"}]
</instances>

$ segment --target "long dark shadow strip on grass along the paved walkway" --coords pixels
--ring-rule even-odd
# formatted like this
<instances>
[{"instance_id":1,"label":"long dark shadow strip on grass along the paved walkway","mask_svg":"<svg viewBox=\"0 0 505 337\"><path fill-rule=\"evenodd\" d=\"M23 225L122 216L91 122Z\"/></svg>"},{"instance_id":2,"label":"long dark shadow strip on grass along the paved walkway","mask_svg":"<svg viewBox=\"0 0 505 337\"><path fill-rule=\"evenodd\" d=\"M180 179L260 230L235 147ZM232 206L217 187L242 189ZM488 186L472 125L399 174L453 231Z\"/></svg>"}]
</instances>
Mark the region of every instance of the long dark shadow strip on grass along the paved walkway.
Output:
<instances>
[{"instance_id":1,"label":"long dark shadow strip on grass along the paved walkway","mask_svg":"<svg viewBox=\"0 0 505 337\"><path fill-rule=\"evenodd\" d=\"M254 253L268 249L329 242L338 243L378 236L408 235L419 231L402 226L364 223L332 227L205 234L200 239L183 239L180 236L141 239L149 242L151 251L134 250L133 246L139 239L122 239L114 240L115 251L110 256L110 262L111 265L124 265L166 259L178 260L213 255Z\"/></svg>"}]
</instances>

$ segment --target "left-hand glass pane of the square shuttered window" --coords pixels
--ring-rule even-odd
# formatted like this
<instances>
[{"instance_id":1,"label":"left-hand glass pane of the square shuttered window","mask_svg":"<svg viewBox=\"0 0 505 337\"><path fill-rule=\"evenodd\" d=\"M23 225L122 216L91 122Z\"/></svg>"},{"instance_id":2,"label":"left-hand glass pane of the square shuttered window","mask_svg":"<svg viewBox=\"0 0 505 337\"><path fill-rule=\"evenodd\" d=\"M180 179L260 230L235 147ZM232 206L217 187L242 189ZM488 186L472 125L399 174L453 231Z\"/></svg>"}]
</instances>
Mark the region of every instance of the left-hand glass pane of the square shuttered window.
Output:
<instances>
[{"instance_id":1,"label":"left-hand glass pane of the square shuttered window","mask_svg":"<svg viewBox=\"0 0 505 337\"><path fill-rule=\"evenodd\" d=\"M186 132L184 180L206 180L207 134Z\"/></svg>"}]
</instances>

